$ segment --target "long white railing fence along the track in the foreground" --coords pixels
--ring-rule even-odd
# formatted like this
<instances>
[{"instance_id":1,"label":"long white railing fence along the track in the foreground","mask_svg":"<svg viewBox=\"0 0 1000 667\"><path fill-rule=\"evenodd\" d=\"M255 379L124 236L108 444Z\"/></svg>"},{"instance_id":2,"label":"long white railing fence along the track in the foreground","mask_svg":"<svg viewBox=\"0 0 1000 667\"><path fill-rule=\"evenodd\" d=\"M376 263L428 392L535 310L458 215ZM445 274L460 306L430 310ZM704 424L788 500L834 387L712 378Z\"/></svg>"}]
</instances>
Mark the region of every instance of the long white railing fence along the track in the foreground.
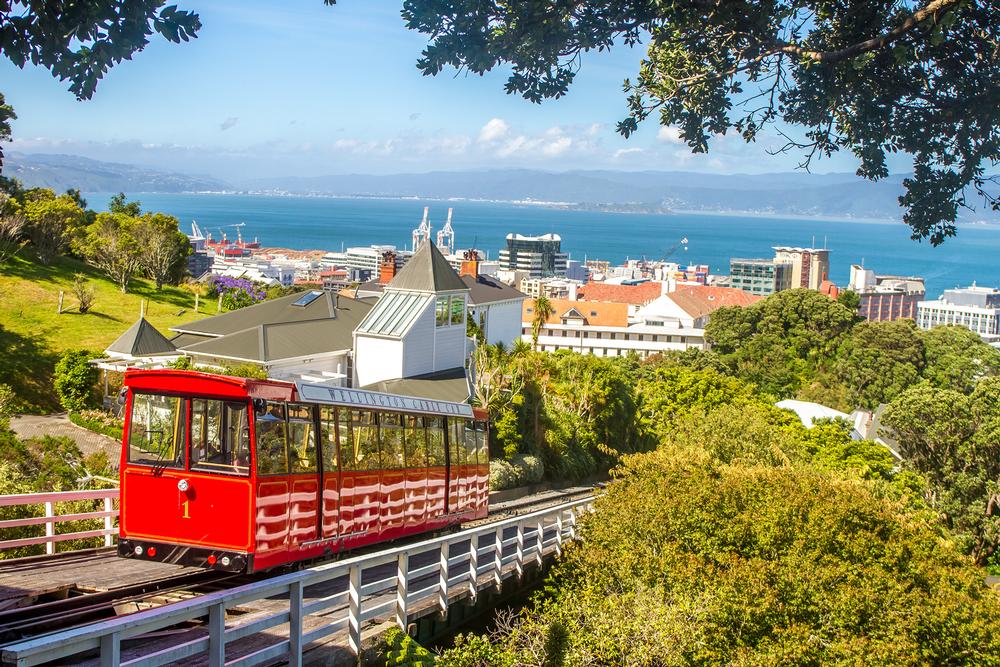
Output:
<instances>
[{"instance_id":1,"label":"long white railing fence along the track in the foreground","mask_svg":"<svg viewBox=\"0 0 1000 667\"><path fill-rule=\"evenodd\" d=\"M540 565L546 556L560 554L563 543L576 537L577 517L590 510L592 504L593 497L574 500L444 537L26 640L5 647L3 661L39 665L98 650L101 665L106 666L153 667L205 653L212 667L249 666L276 659L299 666L304 647L344 631L351 653L359 655L366 622L392 619L405 629L418 606L422 610L431 606L447 612L449 596L474 597L480 586L499 586L505 578L521 575L527 564ZM511 534L506 536L508 533ZM464 548L466 544L468 548ZM459 553L453 555L453 550ZM421 560L430 562L419 565ZM362 584L362 575L376 568L385 572L376 572L377 580ZM484 577L488 582L483 581ZM347 579L347 590L305 594L308 587L323 584L336 587L333 582L339 578ZM238 619L226 622L227 609L256 603L256 608L266 610L265 600L273 601L276 597L282 600L277 611L252 615L242 623ZM283 602L286 597L287 606ZM179 623L203 619L207 632L192 630L186 639L175 637L170 646L150 648L149 652L133 646L123 656L122 643L126 640L141 639ZM283 633L276 637L267 632L279 626L288 627L287 639ZM258 633L267 633L274 641L249 653L235 645ZM237 657L233 655L236 652L245 654Z\"/></svg>"}]
</instances>

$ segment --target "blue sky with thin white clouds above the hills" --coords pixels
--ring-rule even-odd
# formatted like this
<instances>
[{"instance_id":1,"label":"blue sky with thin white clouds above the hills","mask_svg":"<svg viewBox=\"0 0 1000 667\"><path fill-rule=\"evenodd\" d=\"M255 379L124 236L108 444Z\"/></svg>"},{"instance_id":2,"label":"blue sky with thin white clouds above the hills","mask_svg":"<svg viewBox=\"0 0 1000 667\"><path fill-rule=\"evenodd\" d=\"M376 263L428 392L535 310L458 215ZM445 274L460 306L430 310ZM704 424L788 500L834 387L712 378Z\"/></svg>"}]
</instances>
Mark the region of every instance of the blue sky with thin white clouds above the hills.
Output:
<instances>
[{"instance_id":1,"label":"blue sky with thin white clouds above the hills","mask_svg":"<svg viewBox=\"0 0 1000 667\"><path fill-rule=\"evenodd\" d=\"M154 37L89 101L44 69L0 60L0 91L18 114L9 150L230 182L497 167L767 173L798 164L768 154L780 145L773 135L751 145L718 137L706 155L691 154L655 119L620 137L622 84L638 71L642 46L587 54L569 94L538 105L504 92L503 69L423 76L416 60L427 39L405 28L399 0L178 4L200 14L198 38ZM814 165L855 168L849 155Z\"/></svg>"}]
</instances>

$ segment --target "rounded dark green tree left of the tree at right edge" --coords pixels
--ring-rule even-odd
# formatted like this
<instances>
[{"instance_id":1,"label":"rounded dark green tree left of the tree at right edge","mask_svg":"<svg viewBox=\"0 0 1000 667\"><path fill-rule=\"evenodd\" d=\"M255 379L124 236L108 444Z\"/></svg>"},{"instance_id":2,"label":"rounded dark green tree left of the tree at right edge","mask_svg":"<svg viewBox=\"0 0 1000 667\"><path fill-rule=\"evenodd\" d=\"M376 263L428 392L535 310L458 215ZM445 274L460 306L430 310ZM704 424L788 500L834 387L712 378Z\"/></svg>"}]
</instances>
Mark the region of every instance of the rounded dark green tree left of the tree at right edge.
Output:
<instances>
[{"instance_id":1,"label":"rounded dark green tree left of the tree at right edge","mask_svg":"<svg viewBox=\"0 0 1000 667\"><path fill-rule=\"evenodd\" d=\"M835 374L851 407L875 409L920 380L924 344L913 320L862 322L846 336Z\"/></svg>"}]
</instances>

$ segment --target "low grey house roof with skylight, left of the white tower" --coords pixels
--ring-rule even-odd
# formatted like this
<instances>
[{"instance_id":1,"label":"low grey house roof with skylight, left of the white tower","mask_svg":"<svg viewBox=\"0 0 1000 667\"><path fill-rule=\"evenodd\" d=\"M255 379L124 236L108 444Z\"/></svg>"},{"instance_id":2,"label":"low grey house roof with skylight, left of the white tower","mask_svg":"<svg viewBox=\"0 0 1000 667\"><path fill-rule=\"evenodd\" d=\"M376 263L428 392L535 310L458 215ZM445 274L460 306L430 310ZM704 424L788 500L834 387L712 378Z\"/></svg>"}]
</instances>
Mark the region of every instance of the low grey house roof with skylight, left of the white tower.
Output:
<instances>
[{"instance_id":1,"label":"low grey house roof with skylight, left of the white tower","mask_svg":"<svg viewBox=\"0 0 1000 667\"><path fill-rule=\"evenodd\" d=\"M301 296L301 294L292 296ZM287 298L282 297L283 300ZM292 300L294 301L294 299ZM324 301L326 299L317 299L314 303L323 303ZM252 322L244 329L222 336L206 337L181 334L185 337L186 344L179 347L182 352L194 356L240 359L257 363L348 350L353 346L354 329L368 314L372 306L370 303L346 296L341 296L338 299L338 304L336 317L324 316L322 309L315 309L314 313L317 315L315 319L301 320L295 319L295 312L292 311L290 321ZM289 308L304 311L308 310L309 306L290 306ZM279 314L287 313L287 310L278 312ZM257 312L261 313L261 311ZM271 311L263 311L262 314L269 313ZM177 337L178 340L181 336Z\"/></svg>"}]
</instances>

